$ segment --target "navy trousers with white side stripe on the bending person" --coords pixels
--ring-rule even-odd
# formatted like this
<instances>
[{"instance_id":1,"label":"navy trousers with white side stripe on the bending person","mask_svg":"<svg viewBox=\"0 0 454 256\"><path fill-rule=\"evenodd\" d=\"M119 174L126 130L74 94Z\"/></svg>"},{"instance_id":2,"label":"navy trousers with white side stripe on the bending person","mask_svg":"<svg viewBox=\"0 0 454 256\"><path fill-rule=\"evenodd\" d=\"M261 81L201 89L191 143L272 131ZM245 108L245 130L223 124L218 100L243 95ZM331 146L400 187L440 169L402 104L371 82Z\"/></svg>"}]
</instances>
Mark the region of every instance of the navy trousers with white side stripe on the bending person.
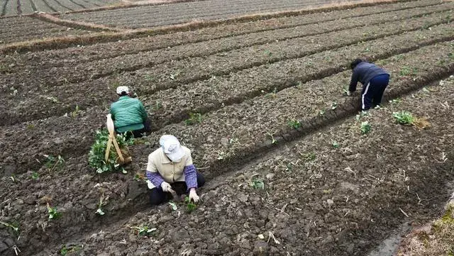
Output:
<instances>
[{"instance_id":1,"label":"navy trousers with white side stripe on the bending person","mask_svg":"<svg viewBox=\"0 0 454 256\"><path fill-rule=\"evenodd\" d=\"M370 79L369 84L362 87L361 108L367 110L380 106L384 89L389 84L389 74L380 74Z\"/></svg>"}]
</instances>

